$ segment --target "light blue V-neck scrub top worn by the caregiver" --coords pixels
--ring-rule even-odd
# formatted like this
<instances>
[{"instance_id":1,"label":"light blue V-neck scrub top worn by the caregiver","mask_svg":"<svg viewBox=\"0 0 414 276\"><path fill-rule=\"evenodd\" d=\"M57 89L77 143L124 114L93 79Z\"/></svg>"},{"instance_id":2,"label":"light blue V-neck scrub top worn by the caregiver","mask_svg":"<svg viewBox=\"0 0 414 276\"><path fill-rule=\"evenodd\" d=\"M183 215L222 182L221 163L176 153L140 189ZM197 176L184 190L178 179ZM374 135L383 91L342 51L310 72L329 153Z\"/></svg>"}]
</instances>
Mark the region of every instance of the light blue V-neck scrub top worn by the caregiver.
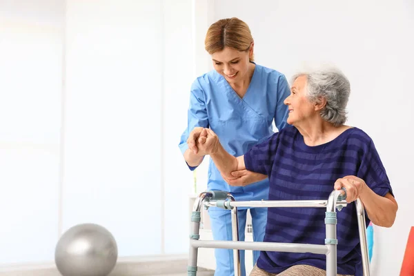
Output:
<instances>
[{"instance_id":1,"label":"light blue V-neck scrub top worn by the caregiver","mask_svg":"<svg viewBox=\"0 0 414 276\"><path fill-rule=\"evenodd\" d=\"M243 98L216 70L198 77L191 87L188 126L181 135L181 152L188 149L193 128L210 128L221 145L235 157L244 155L260 141L273 135L273 119L278 130L286 126L290 95L286 77L276 70L256 64ZM196 167L190 167L194 170ZM208 167L208 190L225 190L237 200L268 199L269 181L265 179L244 187L230 186L221 177L212 159Z\"/></svg>"}]
</instances>

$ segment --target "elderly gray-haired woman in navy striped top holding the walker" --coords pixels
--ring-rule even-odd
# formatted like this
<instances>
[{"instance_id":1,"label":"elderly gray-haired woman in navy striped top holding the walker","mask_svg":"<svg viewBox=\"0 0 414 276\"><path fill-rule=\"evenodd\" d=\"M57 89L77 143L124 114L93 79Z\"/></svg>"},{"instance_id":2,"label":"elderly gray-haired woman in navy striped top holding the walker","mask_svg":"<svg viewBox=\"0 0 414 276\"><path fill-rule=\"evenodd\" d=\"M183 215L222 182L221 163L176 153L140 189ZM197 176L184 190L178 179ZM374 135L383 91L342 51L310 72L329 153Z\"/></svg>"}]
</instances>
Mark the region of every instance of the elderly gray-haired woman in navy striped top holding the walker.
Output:
<instances>
[{"instance_id":1,"label":"elderly gray-haired woman in navy striped top holding the walker","mask_svg":"<svg viewBox=\"0 0 414 276\"><path fill-rule=\"evenodd\" d=\"M390 181L373 140L359 128L344 125L350 85L338 70L293 77L288 126L245 155L233 157L217 135L204 128L195 138L227 179L238 170L266 175L270 200L328 198L333 188L346 188L346 201L359 198L368 218L391 227L397 213ZM235 137L237 139L237 137ZM232 175L233 172L233 175ZM254 184L253 184L254 185ZM337 214L337 271L362 275L355 204ZM325 238L322 208L268 208L265 242L320 244ZM326 275L326 259L311 253L262 252L250 276Z\"/></svg>"}]
</instances>

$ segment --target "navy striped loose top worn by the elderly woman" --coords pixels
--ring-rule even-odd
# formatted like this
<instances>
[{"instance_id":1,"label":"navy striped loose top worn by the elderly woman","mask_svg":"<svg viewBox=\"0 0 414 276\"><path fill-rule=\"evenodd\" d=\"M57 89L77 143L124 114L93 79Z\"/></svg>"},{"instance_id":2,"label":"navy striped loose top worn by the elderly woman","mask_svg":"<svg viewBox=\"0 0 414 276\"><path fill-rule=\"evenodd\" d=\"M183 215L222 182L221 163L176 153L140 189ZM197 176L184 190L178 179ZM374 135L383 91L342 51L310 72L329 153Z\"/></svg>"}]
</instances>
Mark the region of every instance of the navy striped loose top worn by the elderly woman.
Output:
<instances>
[{"instance_id":1,"label":"navy striped loose top worn by the elderly woman","mask_svg":"<svg viewBox=\"0 0 414 276\"><path fill-rule=\"evenodd\" d=\"M335 181L346 175L364 179L378 195L392 193L372 139L359 128L349 128L326 144L306 146L297 128L288 126L246 152L244 162L248 170L268 175L269 200L328 199ZM264 242L324 244L325 211L268 208ZM337 218L337 272L362 275L355 204L348 204ZM262 252L257 261L259 268L270 273L281 273L295 264L326 270L326 256Z\"/></svg>"}]
</instances>

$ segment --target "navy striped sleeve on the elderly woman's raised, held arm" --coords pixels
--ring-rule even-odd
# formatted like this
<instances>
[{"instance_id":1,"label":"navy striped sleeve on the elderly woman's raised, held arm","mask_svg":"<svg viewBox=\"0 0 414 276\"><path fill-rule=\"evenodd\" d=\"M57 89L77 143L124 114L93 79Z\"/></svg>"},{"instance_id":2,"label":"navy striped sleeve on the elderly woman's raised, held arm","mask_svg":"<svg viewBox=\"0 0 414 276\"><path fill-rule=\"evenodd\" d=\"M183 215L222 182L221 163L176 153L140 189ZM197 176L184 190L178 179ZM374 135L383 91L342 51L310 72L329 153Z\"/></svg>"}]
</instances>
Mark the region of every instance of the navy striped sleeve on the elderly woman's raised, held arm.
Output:
<instances>
[{"instance_id":1,"label":"navy striped sleeve on the elderly woman's raised, held arm","mask_svg":"<svg viewBox=\"0 0 414 276\"><path fill-rule=\"evenodd\" d=\"M244 155L244 164L247 170L270 176L273 161L277 151L279 132L257 144Z\"/></svg>"}]
</instances>

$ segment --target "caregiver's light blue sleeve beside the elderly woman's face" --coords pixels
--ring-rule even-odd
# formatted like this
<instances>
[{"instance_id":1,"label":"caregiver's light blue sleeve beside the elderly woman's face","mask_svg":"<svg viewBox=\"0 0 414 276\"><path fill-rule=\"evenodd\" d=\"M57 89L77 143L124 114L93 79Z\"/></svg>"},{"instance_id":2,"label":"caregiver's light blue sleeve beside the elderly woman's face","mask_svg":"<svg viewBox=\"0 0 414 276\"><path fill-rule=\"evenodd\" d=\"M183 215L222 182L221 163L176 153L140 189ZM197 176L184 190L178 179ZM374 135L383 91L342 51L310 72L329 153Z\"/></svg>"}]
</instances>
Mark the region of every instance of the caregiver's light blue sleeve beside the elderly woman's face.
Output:
<instances>
[{"instance_id":1,"label":"caregiver's light blue sleeve beside the elderly woman's face","mask_svg":"<svg viewBox=\"0 0 414 276\"><path fill-rule=\"evenodd\" d=\"M279 131L288 126L286 120L288 119L289 108L284 104L284 100L289 95L289 83L284 75L280 75L277 81L277 104L275 110L275 125Z\"/></svg>"}]
</instances>

